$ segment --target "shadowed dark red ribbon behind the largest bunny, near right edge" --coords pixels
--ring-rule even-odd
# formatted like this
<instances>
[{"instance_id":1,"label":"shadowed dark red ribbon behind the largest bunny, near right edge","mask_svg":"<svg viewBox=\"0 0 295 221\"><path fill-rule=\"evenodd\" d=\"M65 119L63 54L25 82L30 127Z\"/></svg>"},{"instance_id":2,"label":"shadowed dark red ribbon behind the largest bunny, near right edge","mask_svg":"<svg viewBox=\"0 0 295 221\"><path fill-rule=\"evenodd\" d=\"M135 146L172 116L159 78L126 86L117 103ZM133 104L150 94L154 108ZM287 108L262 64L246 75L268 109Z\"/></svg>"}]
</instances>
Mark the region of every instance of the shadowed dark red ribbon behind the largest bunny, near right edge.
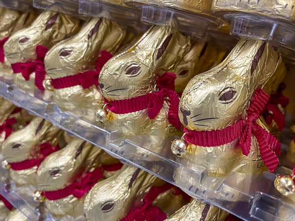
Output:
<instances>
[{"instance_id":1,"label":"shadowed dark red ribbon behind the largest bunny, near right edge","mask_svg":"<svg viewBox=\"0 0 295 221\"><path fill-rule=\"evenodd\" d=\"M278 105L281 105L282 108L286 108L289 104L289 98L285 97L283 90L286 88L285 83L280 83L278 90L270 95L270 98L265 106L265 111L263 116L267 124L270 124L272 120L276 122L280 131L283 130L285 126L285 116L278 108Z\"/></svg>"}]
</instances>

